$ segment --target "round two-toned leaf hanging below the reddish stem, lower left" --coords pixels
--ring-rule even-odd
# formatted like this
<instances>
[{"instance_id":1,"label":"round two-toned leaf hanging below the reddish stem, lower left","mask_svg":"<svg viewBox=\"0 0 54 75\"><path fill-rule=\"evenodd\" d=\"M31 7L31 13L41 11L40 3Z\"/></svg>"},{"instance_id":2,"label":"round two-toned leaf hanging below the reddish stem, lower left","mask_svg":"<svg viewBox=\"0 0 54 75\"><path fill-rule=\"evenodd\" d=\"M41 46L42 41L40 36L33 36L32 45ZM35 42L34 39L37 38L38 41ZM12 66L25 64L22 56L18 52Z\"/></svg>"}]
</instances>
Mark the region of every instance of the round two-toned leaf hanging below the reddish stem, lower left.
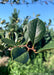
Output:
<instances>
[{"instance_id":1,"label":"round two-toned leaf hanging below the reddish stem, lower left","mask_svg":"<svg viewBox=\"0 0 54 75\"><path fill-rule=\"evenodd\" d=\"M12 50L12 58L17 62L26 63L29 59L29 53L25 48L16 47Z\"/></svg>"}]
</instances>

